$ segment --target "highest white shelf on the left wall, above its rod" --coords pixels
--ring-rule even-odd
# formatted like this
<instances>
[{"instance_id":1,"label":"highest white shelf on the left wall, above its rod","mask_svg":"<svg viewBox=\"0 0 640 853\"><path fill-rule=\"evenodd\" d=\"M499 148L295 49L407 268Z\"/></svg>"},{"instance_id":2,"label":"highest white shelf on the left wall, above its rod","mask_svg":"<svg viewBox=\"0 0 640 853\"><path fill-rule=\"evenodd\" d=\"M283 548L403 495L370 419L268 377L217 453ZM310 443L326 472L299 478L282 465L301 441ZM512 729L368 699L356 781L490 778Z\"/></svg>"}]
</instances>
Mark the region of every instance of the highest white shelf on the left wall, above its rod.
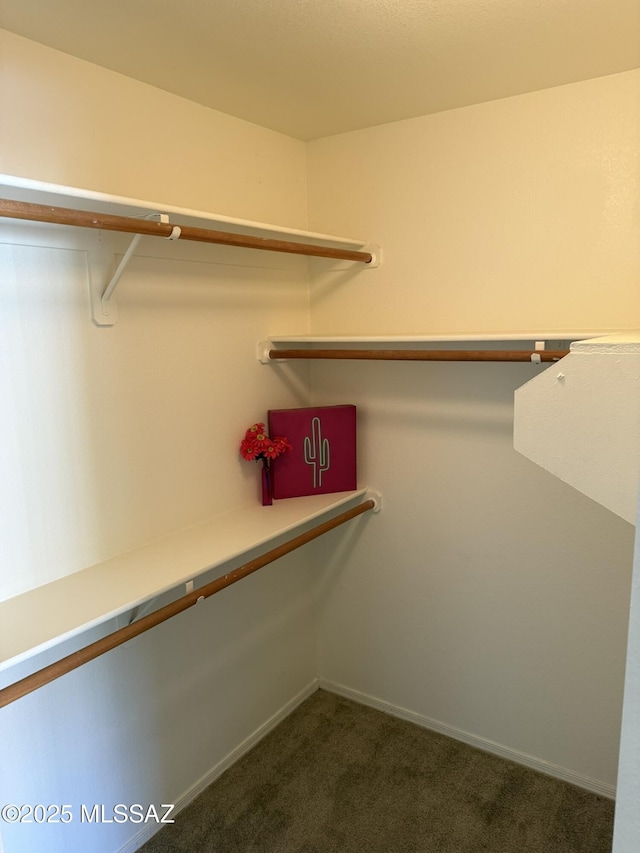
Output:
<instances>
[{"instance_id":1,"label":"highest white shelf on the left wall, above its rod","mask_svg":"<svg viewBox=\"0 0 640 853\"><path fill-rule=\"evenodd\" d=\"M315 231L305 231L298 228L289 228L287 226L272 225L266 222L258 222L251 219L240 219L233 216L226 216L219 213L211 213L202 210L194 210L186 207L177 207L171 204L164 204L157 201L146 201L143 199L129 198L127 196L110 195L108 193L97 192L95 190L87 190L79 187L68 187L62 184L52 184L46 181L36 181L31 178L22 178L16 175L0 174L0 188L10 187L15 190L23 190L33 193L46 193L49 195L59 196L62 199L73 198L82 202L91 202L94 205L101 206L100 213L117 212L118 214L126 215L127 210L139 212L155 212L170 213L174 216L185 219L195 219L199 222L217 223L226 226L226 230L230 227L243 228L250 231L259 231L261 233L287 235L290 237L299 237L309 242L332 243L341 246L363 247L369 241L361 240L352 237L337 237L332 234L321 234ZM110 208L118 208L113 211ZM84 208L83 208L84 209ZM125 210L123 210L125 209ZM180 224L180 223L178 223ZM184 223L182 223L184 224Z\"/></svg>"}]
</instances>

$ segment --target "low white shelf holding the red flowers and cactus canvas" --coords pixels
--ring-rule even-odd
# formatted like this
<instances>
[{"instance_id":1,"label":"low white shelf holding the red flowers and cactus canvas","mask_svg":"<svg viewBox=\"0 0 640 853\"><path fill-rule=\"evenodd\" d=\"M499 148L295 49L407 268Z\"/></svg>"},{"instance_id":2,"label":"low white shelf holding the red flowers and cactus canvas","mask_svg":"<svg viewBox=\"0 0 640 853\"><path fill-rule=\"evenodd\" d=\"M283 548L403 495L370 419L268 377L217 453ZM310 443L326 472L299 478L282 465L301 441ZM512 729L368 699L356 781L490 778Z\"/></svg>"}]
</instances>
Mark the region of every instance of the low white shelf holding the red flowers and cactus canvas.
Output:
<instances>
[{"instance_id":1,"label":"low white shelf holding the red flowers and cactus canvas","mask_svg":"<svg viewBox=\"0 0 640 853\"><path fill-rule=\"evenodd\" d=\"M0 602L0 670L365 498L379 496L362 488L252 504Z\"/></svg>"}]
</instances>

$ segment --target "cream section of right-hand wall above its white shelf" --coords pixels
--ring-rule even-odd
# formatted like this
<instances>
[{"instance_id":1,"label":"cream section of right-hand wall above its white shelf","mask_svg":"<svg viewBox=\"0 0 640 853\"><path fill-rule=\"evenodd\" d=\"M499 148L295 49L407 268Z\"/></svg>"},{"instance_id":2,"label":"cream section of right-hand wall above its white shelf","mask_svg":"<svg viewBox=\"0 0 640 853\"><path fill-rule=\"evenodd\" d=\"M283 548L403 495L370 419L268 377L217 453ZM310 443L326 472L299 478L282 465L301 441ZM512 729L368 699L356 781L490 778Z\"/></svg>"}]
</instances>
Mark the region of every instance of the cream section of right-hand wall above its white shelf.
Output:
<instances>
[{"instance_id":1,"label":"cream section of right-hand wall above its white shelf","mask_svg":"<svg viewBox=\"0 0 640 853\"><path fill-rule=\"evenodd\" d=\"M385 252L322 280L313 331L640 324L639 93L632 71L311 143L310 226Z\"/></svg>"}]
</instances>

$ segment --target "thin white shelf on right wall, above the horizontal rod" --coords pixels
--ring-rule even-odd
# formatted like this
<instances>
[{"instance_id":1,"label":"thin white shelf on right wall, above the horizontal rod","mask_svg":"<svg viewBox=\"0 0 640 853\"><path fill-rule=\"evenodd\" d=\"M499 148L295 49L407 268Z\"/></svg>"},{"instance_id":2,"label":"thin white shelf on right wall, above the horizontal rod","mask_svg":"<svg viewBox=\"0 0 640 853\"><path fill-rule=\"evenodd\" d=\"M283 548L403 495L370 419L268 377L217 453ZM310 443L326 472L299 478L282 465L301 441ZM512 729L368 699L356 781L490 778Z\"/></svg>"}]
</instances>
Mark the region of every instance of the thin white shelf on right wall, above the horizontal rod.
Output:
<instances>
[{"instance_id":1,"label":"thin white shelf on right wall, above the horizontal rod","mask_svg":"<svg viewBox=\"0 0 640 853\"><path fill-rule=\"evenodd\" d=\"M438 335L270 335L277 343L300 344L428 344L463 343L474 341L578 341L605 335L625 334L622 329L587 329L520 332L452 332Z\"/></svg>"}]
</instances>

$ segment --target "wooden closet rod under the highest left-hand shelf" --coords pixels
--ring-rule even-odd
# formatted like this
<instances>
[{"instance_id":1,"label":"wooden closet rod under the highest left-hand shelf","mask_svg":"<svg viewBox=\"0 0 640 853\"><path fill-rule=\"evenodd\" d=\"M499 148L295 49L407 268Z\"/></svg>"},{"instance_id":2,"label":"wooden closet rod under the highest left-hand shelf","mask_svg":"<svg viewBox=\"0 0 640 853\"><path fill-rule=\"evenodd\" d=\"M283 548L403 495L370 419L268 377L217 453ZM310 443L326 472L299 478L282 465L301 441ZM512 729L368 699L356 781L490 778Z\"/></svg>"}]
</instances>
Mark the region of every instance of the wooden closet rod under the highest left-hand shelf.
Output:
<instances>
[{"instance_id":1,"label":"wooden closet rod under the highest left-hand shelf","mask_svg":"<svg viewBox=\"0 0 640 853\"><path fill-rule=\"evenodd\" d=\"M23 201L0 199L0 216L10 219L30 219L35 222L51 222L56 225L77 225L80 228L98 228L103 231L122 231L126 234L142 234L151 237L171 237L192 240L198 243L220 243L243 249L265 249L269 252L288 252L293 255L313 255L318 258L336 258L343 261L371 263L373 255L351 249L334 249L316 246L313 243L295 243L267 237L251 237L209 228L175 226L168 222L135 219L129 216L114 216L110 213L90 213L69 207L50 207L46 204L31 204Z\"/></svg>"}]
</instances>

